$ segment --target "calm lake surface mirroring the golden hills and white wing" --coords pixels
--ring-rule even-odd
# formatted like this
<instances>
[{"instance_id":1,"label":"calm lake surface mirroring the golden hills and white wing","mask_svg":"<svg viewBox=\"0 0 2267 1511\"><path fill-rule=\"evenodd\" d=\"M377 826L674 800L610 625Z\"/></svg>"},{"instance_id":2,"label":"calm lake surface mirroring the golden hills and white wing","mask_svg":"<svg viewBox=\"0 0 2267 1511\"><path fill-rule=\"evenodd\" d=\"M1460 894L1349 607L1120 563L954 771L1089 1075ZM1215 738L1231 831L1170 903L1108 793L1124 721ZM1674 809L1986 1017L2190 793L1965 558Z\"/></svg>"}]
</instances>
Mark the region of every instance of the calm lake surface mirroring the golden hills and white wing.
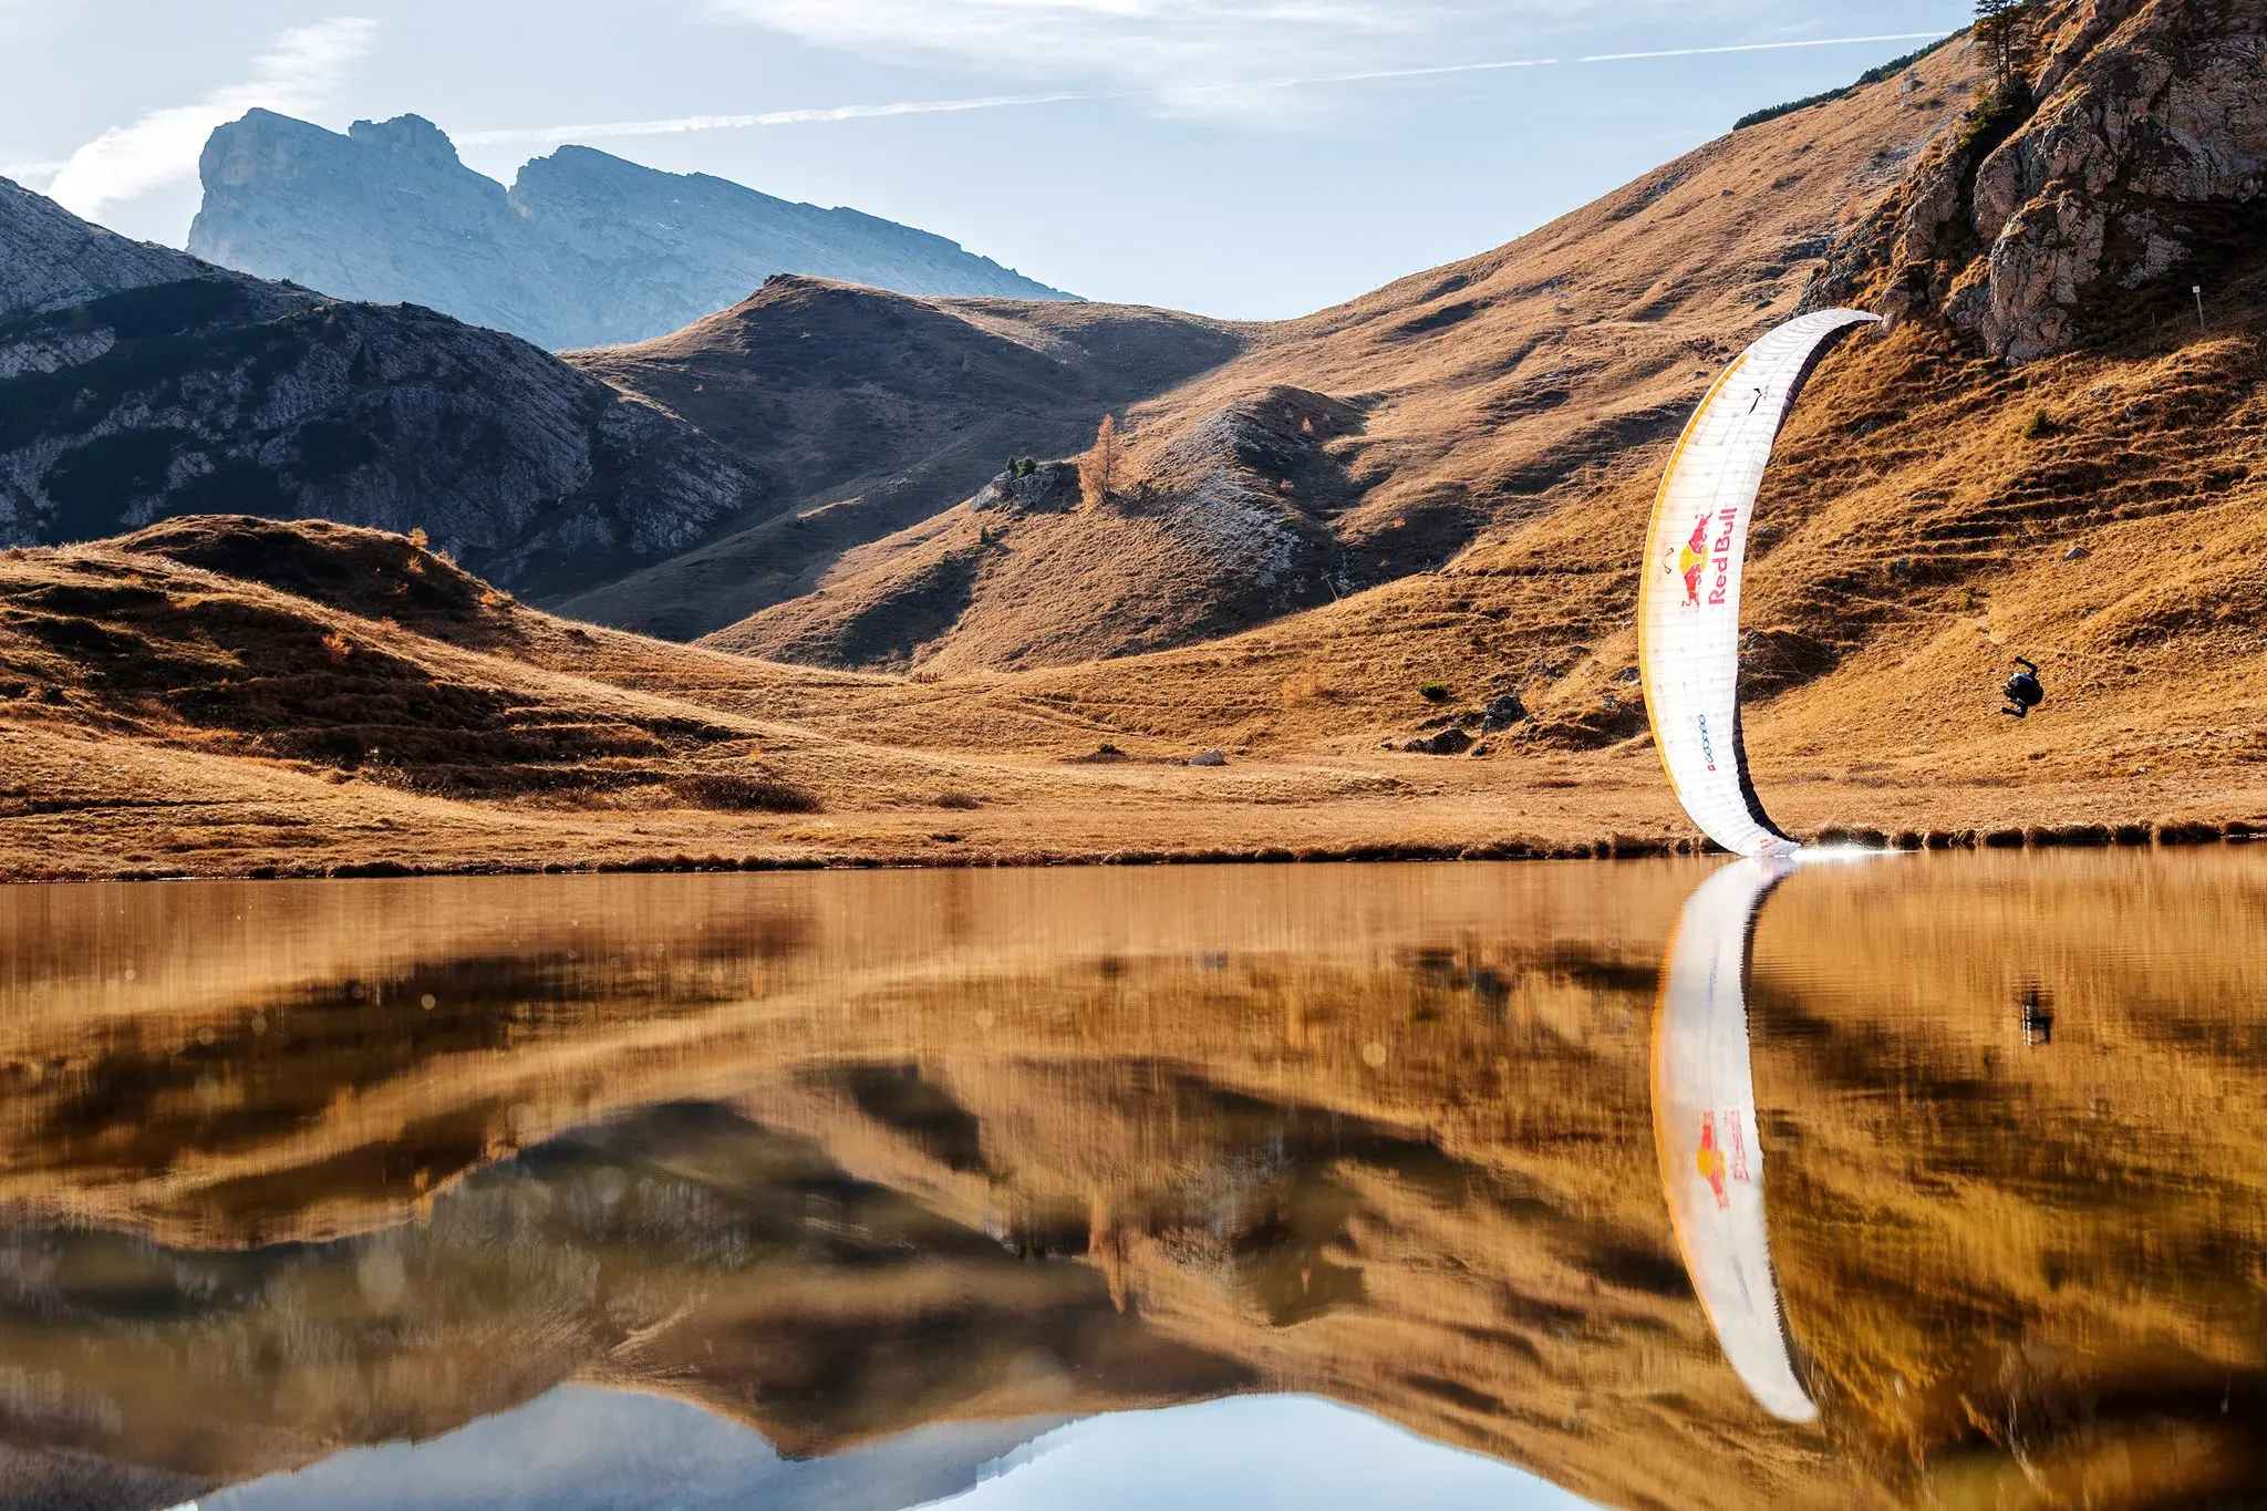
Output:
<instances>
[{"instance_id":1,"label":"calm lake surface mirroring the golden hills and white wing","mask_svg":"<svg viewBox=\"0 0 2267 1511\"><path fill-rule=\"evenodd\" d=\"M2267 1504L2267 850L0 890L0 1506Z\"/></svg>"}]
</instances>

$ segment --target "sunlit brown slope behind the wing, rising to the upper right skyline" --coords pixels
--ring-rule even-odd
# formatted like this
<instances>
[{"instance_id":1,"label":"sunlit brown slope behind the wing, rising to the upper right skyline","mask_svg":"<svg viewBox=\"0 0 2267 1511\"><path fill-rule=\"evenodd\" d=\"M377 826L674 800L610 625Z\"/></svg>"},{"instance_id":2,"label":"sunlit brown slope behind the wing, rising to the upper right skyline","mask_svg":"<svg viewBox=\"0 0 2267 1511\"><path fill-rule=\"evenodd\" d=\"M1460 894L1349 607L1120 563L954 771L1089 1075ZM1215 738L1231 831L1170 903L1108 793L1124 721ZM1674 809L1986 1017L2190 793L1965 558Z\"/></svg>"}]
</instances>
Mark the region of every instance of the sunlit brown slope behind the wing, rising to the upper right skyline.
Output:
<instances>
[{"instance_id":1,"label":"sunlit brown slope behind the wing, rising to the upper right skyline","mask_svg":"<svg viewBox=\"0 0 2267 1511\"><path fill-rule=\"evenodd\" d=\"M1836 236L1959 127L1975 86L1968 50L1943 48L1508 247L1265 326L1238 360L1134 408L1113 507L950 510L714 643L827 666L1072 664L1437 571L1535 519L1589 519L1601 492L1659 464L1716 369L1795 313Z\"/></svg>"}]
</instances>

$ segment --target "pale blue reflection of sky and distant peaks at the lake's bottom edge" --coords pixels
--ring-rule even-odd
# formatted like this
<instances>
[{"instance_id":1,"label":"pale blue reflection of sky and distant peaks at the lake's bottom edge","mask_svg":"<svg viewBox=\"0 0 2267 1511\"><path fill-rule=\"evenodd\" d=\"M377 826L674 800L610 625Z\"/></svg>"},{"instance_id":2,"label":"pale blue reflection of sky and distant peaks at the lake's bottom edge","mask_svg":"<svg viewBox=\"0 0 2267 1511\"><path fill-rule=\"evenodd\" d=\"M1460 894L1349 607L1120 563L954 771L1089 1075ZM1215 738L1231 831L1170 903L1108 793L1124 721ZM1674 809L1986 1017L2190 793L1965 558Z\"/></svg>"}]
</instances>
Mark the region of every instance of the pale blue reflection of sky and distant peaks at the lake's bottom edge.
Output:
<instances>
[{"instance_id":1,"label":"pale blue reflection of sky and distant peaks at the lake's bottom edge","mask_svg":"<svg viewBox=\"0 0 2267 1511\"><path fill-rule=\"evenodd\" d=\"M358 1448L197 1511L1038 1511L1041 1506L1489 1506L1589 1502L1310 1395L1070 1425L948 1423L812 1461L662 1395L560 1386L428 1443ZM188 1509L184 1509L188 1511Z\"/></svg>"}]
</instances>

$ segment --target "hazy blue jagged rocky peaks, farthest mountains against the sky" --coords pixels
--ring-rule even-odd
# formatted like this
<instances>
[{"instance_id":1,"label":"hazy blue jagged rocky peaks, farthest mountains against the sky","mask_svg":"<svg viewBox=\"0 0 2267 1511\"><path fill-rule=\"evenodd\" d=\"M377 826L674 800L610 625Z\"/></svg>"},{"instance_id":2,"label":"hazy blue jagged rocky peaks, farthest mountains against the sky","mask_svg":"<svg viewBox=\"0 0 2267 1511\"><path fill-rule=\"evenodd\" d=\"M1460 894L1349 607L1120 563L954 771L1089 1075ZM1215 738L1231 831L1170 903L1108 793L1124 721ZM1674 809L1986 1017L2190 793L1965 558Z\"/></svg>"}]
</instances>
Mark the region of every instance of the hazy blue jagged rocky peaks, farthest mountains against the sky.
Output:
<instances>
[{"instance_id":1,"label":"hazy blue jagged rocky peaks, farthest mountains against the sky","mask_svg":"<svg viewBox=\"0 0 2267 1511\"><path fill-rule=\"evenodd\" d=\"M424 304L551 351L666 335L780 272L902 294L1070 299L943 236L589 147L506 188L419 116L340 136L274 111L213 131L188 249L340 299Z\"/></svg>"}]
</instances>

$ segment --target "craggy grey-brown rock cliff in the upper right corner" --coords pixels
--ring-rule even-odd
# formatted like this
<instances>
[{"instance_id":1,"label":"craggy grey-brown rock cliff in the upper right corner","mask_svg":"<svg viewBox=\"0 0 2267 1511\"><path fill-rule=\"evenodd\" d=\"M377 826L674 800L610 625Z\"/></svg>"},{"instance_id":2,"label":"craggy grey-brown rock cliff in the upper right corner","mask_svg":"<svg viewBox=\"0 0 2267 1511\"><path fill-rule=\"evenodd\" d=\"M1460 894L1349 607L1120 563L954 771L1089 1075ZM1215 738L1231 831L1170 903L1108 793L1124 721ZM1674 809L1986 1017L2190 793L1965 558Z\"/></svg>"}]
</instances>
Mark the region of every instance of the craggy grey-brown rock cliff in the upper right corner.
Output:
<instances>
[{"instance_id":1,"label":"craggy grey-brown rock cliff in the upper right corner","mask_svg":"<svg viewBox=\"0 0 2267 1511\"><path fill-rule=\"evenodd\" d=\"M1814 304L1934 308L2022 362L2163 313L2267 227L2267 5L2077 0L2031 25L2022 77L1839 240Z\"/></svg>"}]
</instances>

